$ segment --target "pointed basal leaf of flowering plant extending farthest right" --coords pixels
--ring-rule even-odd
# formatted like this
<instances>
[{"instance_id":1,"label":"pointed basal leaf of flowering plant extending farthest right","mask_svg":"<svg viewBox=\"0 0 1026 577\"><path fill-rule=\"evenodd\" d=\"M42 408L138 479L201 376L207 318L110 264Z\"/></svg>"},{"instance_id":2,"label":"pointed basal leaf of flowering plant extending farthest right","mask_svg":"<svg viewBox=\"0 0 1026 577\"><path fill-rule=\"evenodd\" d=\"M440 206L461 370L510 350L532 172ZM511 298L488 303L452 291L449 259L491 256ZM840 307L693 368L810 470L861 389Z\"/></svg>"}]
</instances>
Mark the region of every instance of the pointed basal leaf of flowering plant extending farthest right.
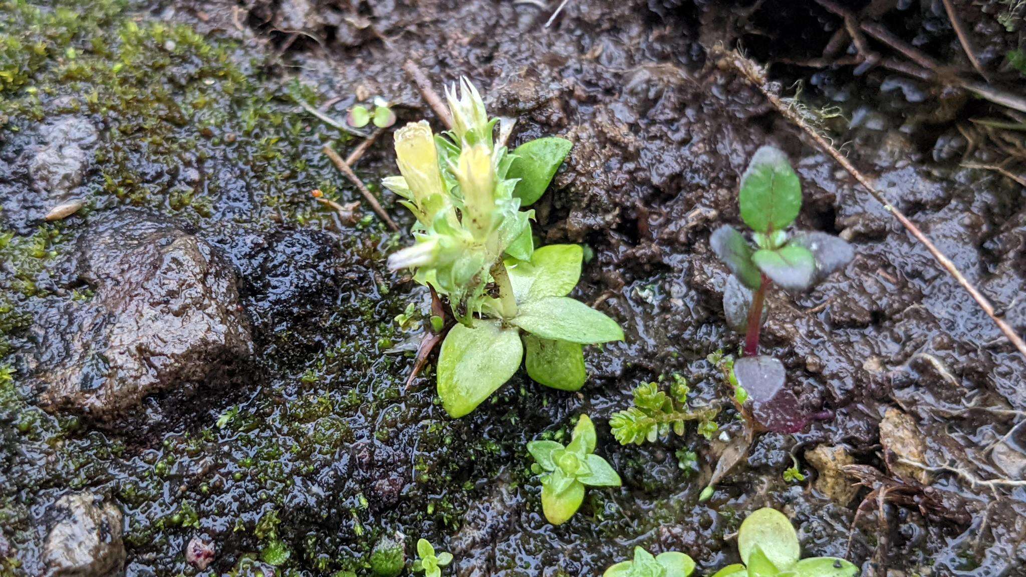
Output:
<instances>
[{"instance_id":1,"label":"pointed basal leaf of flowering plant extending farthest right","mask_svg":"<svg viewBox=\"0 0 1026 577\"><path fill-rule=\"evenodd\" d=\"M510 322L545 339L583 345L624 340L616 320L568 297L528 301Z\"/></svg>"}]
</instances>

